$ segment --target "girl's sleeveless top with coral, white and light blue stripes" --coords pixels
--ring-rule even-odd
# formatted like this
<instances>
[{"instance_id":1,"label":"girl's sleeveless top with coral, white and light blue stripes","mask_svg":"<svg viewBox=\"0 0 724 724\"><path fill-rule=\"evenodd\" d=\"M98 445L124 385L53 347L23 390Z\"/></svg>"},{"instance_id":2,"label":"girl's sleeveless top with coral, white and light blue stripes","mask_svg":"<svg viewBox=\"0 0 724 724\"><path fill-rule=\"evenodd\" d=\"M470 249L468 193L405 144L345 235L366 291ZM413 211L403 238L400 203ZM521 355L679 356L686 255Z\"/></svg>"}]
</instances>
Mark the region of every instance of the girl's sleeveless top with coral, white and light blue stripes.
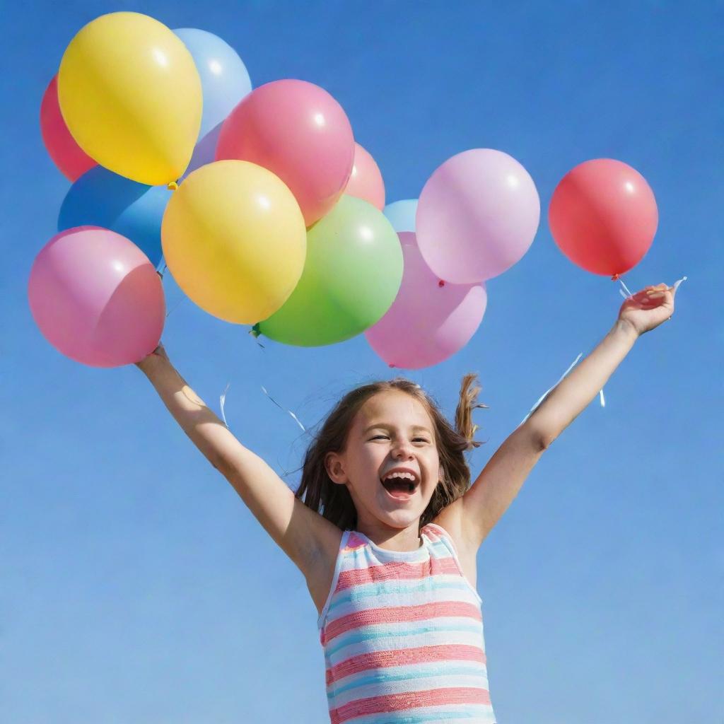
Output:
<instances>
[{"instance_id":1,"label":"girl's sleeveless top with coral, white and light blue stripes","mask_svg":"<svg viewBox=\"0 0 724 724\"><path fill-rule=\"evenodd\" d=\"M450 535L418 550L345 531L319 616L332 724L494 724L481 598Z\"/></svg>"}]
</instances>

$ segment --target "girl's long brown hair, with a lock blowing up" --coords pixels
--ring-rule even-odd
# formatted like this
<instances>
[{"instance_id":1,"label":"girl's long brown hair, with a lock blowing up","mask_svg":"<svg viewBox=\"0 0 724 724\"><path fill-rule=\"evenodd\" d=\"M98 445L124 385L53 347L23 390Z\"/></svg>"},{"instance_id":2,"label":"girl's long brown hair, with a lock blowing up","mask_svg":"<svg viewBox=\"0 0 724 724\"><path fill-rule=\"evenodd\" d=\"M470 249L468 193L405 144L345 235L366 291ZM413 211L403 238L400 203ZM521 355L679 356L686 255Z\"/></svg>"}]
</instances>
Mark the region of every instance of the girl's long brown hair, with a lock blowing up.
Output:
<instances>
[{"instance_id":1,"label":"girl's long brown hair, with a lock blowing up","mask_svg":"<svg viewBox=\"0 0 724 724\"><path fill-rule=\"evenodd\" d=\"M458 500L470 487L470 468L463 455L480 442L473 439L477 425L472 424L472 411L475 408L487 408L477 402L480 387L473 387L475 374L466 374L460 384L460 399L455 411L455 426L451 426L440 412L437 403L414 382L404 377L395 377L389 381L371 382L357 387L334 406L334 409L316 433L304 456L302 479L295 497L304 504L321 513L338 528L353 530L357 525L357 511L344 485L337 485L329 479L324 458L329 452L342 452L355 415L370 397L378 392L397 390L405 392L418 400L432 419L435 444L442 467L442 480L432 494L424 513L420 518L420 527L432 521L441 510Z\"/></svg>"}]
</instances>

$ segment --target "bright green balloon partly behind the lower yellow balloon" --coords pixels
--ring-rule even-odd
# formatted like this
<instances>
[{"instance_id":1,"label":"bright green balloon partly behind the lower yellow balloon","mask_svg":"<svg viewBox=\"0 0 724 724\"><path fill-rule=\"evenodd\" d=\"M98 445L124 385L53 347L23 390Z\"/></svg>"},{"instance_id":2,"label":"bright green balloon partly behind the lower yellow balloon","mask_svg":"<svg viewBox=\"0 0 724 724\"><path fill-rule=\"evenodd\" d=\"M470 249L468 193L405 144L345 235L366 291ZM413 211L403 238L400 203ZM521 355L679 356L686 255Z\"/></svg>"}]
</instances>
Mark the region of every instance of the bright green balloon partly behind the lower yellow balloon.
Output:
<instances>
[{"instance_id":1,"label":"bright green balloon partly behind the lower yellow balloon","mask_svg":"<svg viewBox=\"0 0 724 724\"><path fill-rule=\"evenodd\" d=\"M253 332L299 347L348 340L382 319L402 279L392 224L371 203L343 195L307 230L304 270L290 298Z\"/></svg>"}]
</instances>

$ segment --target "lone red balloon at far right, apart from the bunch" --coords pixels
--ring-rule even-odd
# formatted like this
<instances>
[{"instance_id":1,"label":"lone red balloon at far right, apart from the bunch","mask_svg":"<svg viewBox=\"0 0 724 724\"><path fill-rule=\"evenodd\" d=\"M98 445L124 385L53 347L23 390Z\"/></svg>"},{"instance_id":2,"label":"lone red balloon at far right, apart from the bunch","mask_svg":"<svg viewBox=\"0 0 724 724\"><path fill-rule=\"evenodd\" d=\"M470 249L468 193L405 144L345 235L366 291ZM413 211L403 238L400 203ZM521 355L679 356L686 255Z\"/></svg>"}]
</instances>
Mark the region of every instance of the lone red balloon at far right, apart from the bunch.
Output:
<instances>
[{"instance_id":1,"label":"lone red balloon at far right, apart from the bunch","mask_svg":"<svg viewBox=\"0 0 724 724\"><path fill-rule=\"evenodd\" d=\"M553 192L548 224L573 264L594 274L623 274L649 251L659 223L654 192L622 161L576 166Z\"/></svg>"}]
</instances>

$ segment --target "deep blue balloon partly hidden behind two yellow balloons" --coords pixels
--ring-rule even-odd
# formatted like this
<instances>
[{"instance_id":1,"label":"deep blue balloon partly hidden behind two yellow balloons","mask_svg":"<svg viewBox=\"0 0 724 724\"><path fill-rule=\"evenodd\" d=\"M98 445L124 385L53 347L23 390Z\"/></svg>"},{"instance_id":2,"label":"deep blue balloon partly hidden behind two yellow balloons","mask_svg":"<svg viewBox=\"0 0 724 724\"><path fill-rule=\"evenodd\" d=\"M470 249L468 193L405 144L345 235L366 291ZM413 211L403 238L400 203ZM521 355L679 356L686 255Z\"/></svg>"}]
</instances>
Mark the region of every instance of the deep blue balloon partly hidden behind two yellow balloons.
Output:
<instances>
[{"instance_id":1,"label":"deep blue balloon partly hidden behind two yellow balloons","mask_svg":"<svg viewBox=\"0 0 724 724\"><path fill-rule=\"evenodd\" d=\"M99 226L130 239L151 264L161 261L161 219L173 192L165 186L146 186L102 166L85 172L68 190L58 231Z\"/></svg>"}]
</instances>

